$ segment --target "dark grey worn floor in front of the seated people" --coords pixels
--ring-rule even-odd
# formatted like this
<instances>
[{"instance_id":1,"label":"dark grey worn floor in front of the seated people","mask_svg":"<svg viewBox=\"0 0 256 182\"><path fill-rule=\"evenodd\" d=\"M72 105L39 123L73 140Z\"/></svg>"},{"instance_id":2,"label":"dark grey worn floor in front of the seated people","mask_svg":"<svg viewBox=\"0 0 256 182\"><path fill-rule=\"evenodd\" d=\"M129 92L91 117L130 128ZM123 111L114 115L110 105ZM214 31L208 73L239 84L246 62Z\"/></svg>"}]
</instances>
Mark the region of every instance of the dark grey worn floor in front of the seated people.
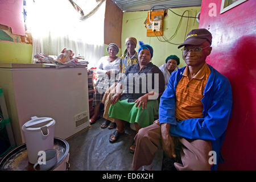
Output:
<instances>
[{"instance_id":1,"label":"dark grey worn floor in front of the seated people","mask_svg":"<svg viewBox=\"0 0 256 182\"><path fill-rule=\"evenodd\" d=\"M70 171L131 171L133 154L129 147L133 142L135 131L128 125L125 134L117 142L110 143L109 136L115 129L101 129L104 119L83 133L69 139ZM156 152L153 166L156 171L162 169L163 152ZM140 170L140 169L139 169Z\"/></svg>"}]
</instances>

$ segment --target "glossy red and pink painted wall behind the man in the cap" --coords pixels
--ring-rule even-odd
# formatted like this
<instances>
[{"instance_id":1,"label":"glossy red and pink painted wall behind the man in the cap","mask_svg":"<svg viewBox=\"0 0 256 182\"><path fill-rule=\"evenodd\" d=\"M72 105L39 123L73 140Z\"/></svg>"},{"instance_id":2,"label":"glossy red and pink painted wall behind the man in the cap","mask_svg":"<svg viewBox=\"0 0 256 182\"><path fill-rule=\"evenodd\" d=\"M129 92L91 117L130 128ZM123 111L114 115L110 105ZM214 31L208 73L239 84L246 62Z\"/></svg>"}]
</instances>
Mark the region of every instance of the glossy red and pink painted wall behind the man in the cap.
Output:
<instances>
[{"instance_id":1,"label":"glossy red and pink painted wall behind the man in the cap","mask_svg":"<svg viewBox=\"0 0 256 182\"><path fill-rule=\"evenodd\" d=\"M209 16L210 3L217 7ZM207 63L229 78L233 115L221 148L219 170L256 170L256 1L248 0L220 14L220 0L203 0L199 28L213 36Z\"/></svg>"}]
</instances>

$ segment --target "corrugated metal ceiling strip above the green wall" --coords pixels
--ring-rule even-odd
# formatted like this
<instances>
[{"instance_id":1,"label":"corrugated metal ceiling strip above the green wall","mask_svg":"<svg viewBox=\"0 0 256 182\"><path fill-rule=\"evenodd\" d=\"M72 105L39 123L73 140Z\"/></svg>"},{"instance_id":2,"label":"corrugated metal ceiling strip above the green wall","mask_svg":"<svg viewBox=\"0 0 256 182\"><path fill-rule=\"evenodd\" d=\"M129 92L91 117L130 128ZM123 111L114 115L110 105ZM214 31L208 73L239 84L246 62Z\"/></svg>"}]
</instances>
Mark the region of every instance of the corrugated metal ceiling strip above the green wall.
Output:
<instances>
[{"instance_id":1,"label":"corrugated metal ceiling strip above the green wall","mask_svg":"<svg viewBox=\"0 0 256 182\"><path fill-rule=\"evenodd\" d=\"M167 8L201 6L202 0L112 0L122 11L146 11L155 5L164 5ZM166 9L156 6L155 9Z\"/></svg>"}]
</instances>

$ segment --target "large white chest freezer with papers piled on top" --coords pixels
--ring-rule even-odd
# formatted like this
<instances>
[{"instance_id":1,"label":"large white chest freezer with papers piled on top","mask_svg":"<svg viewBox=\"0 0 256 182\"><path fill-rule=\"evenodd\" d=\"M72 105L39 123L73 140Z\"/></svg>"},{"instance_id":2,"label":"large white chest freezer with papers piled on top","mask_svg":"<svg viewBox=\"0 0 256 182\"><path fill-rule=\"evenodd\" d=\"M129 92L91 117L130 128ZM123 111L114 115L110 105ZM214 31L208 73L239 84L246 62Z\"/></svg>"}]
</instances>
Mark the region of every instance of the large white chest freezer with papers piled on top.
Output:
<instances>
[{"instance_id":1,"label":"large white chest freezer with papers piled on top","mask_svg":"<svg viewBox=\"0 0 256 182\"><path fill-rule=\"evenodd\" d=\"M89 127L86 67L43 65L0 64L0 87L18 146L25 142L22 125L35 115L55 119L55 137L62 139Z\"/></svg>"}]
</instances>

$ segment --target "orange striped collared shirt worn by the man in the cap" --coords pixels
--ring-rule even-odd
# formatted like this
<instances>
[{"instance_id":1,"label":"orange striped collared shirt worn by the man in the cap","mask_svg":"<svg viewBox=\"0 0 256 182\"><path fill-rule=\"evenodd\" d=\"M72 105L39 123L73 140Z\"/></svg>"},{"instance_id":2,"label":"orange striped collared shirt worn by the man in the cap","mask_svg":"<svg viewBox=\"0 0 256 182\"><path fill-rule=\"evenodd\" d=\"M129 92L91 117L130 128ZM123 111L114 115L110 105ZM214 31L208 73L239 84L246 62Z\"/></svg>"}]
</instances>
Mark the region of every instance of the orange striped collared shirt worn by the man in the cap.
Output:
<instances>
[{"instance_id":1,"label":"orange striped collared shirt worn by the man in the cap","mask_svg":"<svg viewBox=\"0 0 256 182\"><path fill-rule=\"evenodd\" d=\"M189 80L188 66L183 72L183 77L176 88L175 118L183 120L203 117L204 88L210 75L210 68L205 63L196 75Z\"/></svg>"}]
</instances>

